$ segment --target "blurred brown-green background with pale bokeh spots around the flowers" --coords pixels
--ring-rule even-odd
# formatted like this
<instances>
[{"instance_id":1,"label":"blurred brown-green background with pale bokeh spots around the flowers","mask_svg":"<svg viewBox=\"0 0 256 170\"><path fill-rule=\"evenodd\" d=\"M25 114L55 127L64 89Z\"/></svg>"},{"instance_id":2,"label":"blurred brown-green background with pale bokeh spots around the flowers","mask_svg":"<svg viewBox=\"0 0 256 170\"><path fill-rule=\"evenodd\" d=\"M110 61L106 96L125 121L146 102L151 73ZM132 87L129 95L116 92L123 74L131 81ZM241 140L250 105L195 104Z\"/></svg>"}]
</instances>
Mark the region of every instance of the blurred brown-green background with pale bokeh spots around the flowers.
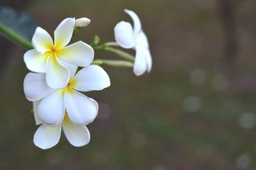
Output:
<instances>
[{"instance_id":1,"label":"blurred brown-green background with pale bokeh spots around the flowers","mask_svg":"<svg viewBox=\"0 0 256 170\"><path fill-rule=\"evenodd\" d=\"M33 145L32 103L22 47L0 38L0 169L256 169L255 0L1 0L53 35L67 17L87 17L73 41L114 41L135 11L148 36L153 69L102 66L112 85L87 96L100 104L89 145ZM133 51L129 51L133 52ZM114 58L96 52L95 58Z\"/></svg>"}]
</instances>

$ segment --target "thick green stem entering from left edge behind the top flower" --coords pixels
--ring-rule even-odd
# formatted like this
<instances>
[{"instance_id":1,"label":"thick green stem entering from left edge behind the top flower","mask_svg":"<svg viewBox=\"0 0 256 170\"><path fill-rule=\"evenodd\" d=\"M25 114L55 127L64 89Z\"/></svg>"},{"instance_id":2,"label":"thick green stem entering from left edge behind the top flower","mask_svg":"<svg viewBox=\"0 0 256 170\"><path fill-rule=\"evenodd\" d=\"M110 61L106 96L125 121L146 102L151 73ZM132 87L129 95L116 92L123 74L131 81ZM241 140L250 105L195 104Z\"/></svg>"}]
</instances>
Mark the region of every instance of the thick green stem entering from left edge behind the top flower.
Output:
<instances>
[{"instance_id":1,"label":"thick green stem entering from left edge behind the top flower","mask_svg":"<svg viewBox=\"0 0 256 170\"><path fill-rule=\"evenodd\" d=\"M6 35L8 38L11 38L11 40L14 40L14 42L17 42L19 45L25 47L27 50L33 49L33 45L31 44L31 42L21 37L21 35L18 35L10 28L4 26L3 23L0 23L0 31L4 33L4 35Z\"/></svg>"}]
</instances>

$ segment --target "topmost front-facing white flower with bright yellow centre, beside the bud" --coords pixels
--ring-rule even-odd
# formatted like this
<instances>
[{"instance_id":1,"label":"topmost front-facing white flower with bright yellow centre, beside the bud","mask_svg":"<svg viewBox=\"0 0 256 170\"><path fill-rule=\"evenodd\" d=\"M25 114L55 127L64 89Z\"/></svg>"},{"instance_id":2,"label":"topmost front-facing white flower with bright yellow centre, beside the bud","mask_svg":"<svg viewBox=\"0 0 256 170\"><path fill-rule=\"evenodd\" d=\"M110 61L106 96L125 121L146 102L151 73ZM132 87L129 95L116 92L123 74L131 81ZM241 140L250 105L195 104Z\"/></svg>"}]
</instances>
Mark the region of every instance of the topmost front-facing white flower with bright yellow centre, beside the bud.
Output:
<instances>
[{"instance_id":1,"label":"topmost front-facing white flower with bright yellow centre, beside the bud","mask_svg":"<svg viewBox=\"0 0 256 170\"><path fill-rule=\"evenodd\" d=\"M32 38L34 49L24 54L26 67L32 72L46 73L46 82L53 89L62 89L70 79L67 65L60 60L87 67L94 58L94 50L85 42L68 45L74 28L75 18L63 20L54 31L54 42L46 30L36 28Z\"/></svg>"}]
</instances>

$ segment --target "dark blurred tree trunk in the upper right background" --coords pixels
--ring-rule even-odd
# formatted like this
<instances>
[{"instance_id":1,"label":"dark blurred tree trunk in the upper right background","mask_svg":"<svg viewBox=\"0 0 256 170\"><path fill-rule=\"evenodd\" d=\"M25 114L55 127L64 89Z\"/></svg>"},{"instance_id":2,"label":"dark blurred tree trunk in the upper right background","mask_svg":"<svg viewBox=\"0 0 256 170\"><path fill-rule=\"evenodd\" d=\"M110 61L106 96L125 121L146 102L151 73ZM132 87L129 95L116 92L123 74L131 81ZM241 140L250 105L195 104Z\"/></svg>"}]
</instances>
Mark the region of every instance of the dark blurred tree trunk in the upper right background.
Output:
<instances>
[{"instance_id":1,"label":"dark blurred tree trunk in the upper right background","mask_svg":"<svg viewBox=\"0 0 256 170\"><path fill-rule=\"evenodd\" d=\"M233 64L238 53L237 24L235 21L236 0L218 0L220 20L224 32L224 60L227 64Z\"/></svg>"}]
</instances>

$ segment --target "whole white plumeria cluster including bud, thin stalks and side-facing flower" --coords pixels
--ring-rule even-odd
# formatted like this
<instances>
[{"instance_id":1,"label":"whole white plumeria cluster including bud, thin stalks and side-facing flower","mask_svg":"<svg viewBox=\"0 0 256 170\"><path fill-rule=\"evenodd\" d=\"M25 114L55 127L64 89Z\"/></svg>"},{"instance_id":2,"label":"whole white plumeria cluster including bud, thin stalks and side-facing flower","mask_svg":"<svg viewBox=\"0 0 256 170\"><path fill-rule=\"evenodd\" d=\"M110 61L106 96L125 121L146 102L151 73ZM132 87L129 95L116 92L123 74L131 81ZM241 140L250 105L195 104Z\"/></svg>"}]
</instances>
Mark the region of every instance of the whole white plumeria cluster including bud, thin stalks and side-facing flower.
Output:
<instances>
[{"instance_id":1,"label":"whole white plumeria cluster including bud, thin stalks and side-facing flower","mask_svg":"<svg viewBox=\"0 0 256 170\"><path fill-rule=\"evenodd\" d=\"M81 147L90 142L90 132L86 125L97 116L98 103L82 92L100 91L110 86L110 77L98 64L131 66L137 76L151 71L149 42L142 30L136 13L124 10L134 21L121 21L114 27L115 44L136 51L135 58L125 52L108 47L114 43L97 46L78 41L68 45L78 28L90 23L88 18L65 18L55 29L54 39L43 28L36 28L32 38L33 49L24 54L24 62L29 72L23 83L28 101L33 102L36 125L40 125L33 142L41 149L58 144L63 129L71 145ZM92 46L91 46L92 45ZM103 48L102 48L103 47ZM107 48L108 47L108 48ZM94 50L109 50L127 61L94 61Z\"/></svg>"}]
</instances>

